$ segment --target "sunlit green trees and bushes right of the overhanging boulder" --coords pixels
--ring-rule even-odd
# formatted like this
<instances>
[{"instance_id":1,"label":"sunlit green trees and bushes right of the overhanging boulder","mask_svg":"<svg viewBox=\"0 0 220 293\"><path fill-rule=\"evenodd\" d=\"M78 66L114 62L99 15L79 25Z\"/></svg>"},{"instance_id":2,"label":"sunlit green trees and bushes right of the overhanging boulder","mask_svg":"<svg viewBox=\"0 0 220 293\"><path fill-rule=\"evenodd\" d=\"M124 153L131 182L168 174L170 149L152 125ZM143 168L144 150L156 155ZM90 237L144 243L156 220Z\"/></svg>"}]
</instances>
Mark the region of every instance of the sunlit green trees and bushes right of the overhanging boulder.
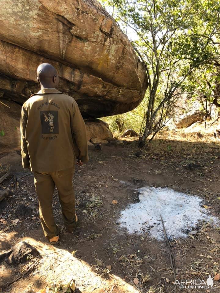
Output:
<instances>
[{"instance_id":1,"label":"sunlit green trees and bushes right of the overhanging boulder","mask_svg":"<svg viewBox=\"0 0 220 293\"><path fill-rule=\"evenodd\" d=\"M149 88L145 101L130 113L118 115L125 128L145 139L166 124L180 90L192 99L218 105L220 3L214 0L102 0L146 65ZM145 105L142 107L142 105ZM138 117L138 118L137 118ZM116 117L105 118L117 129ZM138 129L139 128L139 129Z\"/></svg>"}]
</instances>

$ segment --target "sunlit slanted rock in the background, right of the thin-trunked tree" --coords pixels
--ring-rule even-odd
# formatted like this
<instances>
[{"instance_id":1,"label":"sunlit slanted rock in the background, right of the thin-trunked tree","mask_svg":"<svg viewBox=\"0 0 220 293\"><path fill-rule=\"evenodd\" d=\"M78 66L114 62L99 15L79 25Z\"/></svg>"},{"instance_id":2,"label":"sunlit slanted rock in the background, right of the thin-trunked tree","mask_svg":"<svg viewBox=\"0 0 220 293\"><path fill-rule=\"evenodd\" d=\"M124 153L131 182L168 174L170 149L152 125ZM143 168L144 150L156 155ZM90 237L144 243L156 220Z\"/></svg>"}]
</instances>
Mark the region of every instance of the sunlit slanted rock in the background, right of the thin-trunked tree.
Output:
<instances>
[{"instance_id":1,"label":"sunlit slanted rock in the background, right of the thin-trunked tree","mask_svg":"<svg viewBox=\"0 0 220 293\"><path fill-rule=\"evenodd\" d=\"M177 128L189 127L193 123L197 121L202 121L204 116L206 115L205 111L196 110L193 112L189 112L186 115L182 115L176 121Z\"/></svg>"}]
</instances>

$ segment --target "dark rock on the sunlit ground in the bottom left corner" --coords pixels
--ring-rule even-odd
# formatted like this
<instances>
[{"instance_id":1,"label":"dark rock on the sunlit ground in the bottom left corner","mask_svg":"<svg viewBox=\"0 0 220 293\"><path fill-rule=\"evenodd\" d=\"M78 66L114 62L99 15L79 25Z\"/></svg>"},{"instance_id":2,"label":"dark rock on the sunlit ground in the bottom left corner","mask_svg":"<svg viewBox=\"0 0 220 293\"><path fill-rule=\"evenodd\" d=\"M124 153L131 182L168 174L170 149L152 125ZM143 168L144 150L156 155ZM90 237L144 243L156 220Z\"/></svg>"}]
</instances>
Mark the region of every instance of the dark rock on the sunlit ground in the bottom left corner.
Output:
<instances>
[{"instance_id":1,"label":"dark rock on the sunlit ground in the bottom left corner","mask_svg":"<svg viewBox=\"0 0 220 293\"><path fill-rule=\"evenodd\" d=\"M0 255L0 263L6 262L10 265L20 264L27 261L28 255L38 256L40 253L31 244L21 241L15 244L12 249Z\"/></svg>"}]
</instances>

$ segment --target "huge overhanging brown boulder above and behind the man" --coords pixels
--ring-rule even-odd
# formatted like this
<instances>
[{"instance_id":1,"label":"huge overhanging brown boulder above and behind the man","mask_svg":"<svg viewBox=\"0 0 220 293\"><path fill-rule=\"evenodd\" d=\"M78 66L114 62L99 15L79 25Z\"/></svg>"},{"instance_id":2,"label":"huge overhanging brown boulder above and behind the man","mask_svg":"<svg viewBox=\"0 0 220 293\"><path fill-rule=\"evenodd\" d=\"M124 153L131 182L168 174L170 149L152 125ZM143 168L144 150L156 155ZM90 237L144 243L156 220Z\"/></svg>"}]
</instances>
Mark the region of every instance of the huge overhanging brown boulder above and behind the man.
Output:
<instances>
[{"instance_id":1,"label":"huge overhanging brown boulder above and behind the man","mask_svg":"<svg viewBox=\"0 0 220 293\"><path fill-rule=\"evenodd\" d=\"M84 117L138 106L148 86L143 64L96 0L2 0L0 96L20 104L38 91L36 68L56 67L59 90Z\"/></svg>"}]
</instances>

